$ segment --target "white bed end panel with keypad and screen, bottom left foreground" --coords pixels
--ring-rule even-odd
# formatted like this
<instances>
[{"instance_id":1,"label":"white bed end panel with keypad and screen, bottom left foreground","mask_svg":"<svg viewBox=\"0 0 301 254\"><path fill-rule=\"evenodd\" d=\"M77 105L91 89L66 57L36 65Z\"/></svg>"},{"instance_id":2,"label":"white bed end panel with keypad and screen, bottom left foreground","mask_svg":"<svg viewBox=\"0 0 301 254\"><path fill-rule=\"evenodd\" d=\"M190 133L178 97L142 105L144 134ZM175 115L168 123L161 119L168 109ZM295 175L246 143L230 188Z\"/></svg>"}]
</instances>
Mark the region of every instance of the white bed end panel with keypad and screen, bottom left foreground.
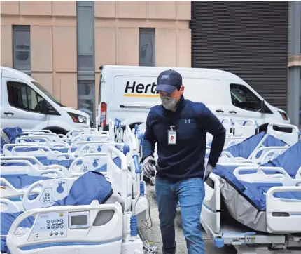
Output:
<instances>
[{"instance_id":1,"label":"white bed end panel with keypad and screen, bottom left foreground","mask_svg":"<svg viewBox=\"0 0 301 254\"><path fill-rule=\"evenodd\" d=\"M20 222L32 217L31 228L16 235ZM121 253L122 236L120 203L100 205L93 201L90 206L28 210L13 222L6 242L14 254Z\"/></svg>"}]
</instances>

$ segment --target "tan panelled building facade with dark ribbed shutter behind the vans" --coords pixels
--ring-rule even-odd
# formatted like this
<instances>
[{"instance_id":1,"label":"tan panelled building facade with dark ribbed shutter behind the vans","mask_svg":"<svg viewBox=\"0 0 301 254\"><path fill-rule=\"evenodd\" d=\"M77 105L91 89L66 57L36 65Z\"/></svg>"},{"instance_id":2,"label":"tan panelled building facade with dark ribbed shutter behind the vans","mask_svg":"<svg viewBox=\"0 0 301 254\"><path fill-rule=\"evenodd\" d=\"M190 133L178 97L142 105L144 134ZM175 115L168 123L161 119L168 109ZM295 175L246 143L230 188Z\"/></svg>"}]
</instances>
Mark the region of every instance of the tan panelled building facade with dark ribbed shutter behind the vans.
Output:
<instances>
[{"instance_id":1,"label":"tan panelled building facade with dark ribbed shutter behind the vans","mask_svg":"<svg viewBox=\"0 0 301 254\"><path fill-rule=\"evenodd\" d=\"M1 1L1 65L94 119L99 67L223 69L301 126L299 1Z\"/></svg>"}]
</instances>

